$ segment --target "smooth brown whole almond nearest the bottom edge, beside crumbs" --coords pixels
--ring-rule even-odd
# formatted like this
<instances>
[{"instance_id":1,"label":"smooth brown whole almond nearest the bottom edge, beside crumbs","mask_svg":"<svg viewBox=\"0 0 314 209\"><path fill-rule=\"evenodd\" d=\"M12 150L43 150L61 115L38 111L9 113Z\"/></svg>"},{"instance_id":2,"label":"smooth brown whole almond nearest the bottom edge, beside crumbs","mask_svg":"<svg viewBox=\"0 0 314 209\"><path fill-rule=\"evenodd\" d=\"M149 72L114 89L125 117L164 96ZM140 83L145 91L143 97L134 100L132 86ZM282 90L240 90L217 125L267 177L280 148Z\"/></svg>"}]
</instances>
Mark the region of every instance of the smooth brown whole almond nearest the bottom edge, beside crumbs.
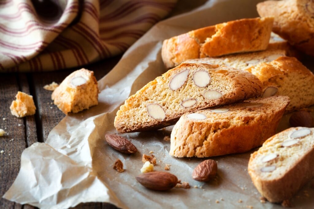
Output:
<instances>
[{"instance_id":1,"label":"smooth brown whole almond nearest the bottom edge, beside crumbs","mask_svg":"<svg viewBox=\"0 0 314 209\"><path fill-rule=\"evenodd\" d=\"M137 176L136 180L146 188L157 191L169 190L178 183L175 175L163 171L144 173Z\"/></svg>"}]
</instances>

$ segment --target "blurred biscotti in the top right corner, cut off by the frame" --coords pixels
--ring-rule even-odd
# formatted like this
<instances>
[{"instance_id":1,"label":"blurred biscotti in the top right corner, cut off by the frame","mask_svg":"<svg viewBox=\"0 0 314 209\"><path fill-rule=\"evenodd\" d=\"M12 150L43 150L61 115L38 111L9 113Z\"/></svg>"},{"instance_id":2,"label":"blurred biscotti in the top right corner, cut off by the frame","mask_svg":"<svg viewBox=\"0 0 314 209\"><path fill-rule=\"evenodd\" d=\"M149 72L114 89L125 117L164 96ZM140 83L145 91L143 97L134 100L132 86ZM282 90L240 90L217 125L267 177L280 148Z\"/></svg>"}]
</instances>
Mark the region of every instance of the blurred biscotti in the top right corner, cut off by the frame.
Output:
<instances>
[{"instance_id":1,"label":"blurred biscotti in the top right corner, cut off by the frame","mask_svg":"<svg viewBox=\"0 0 314 209\"><path fill-rule=\"evenodd\" d=\"M261 17L273 16L273 31L297 49L314 56L314 2L309 0L265 1L257 4Z\"/></svg>"}]
</instances>

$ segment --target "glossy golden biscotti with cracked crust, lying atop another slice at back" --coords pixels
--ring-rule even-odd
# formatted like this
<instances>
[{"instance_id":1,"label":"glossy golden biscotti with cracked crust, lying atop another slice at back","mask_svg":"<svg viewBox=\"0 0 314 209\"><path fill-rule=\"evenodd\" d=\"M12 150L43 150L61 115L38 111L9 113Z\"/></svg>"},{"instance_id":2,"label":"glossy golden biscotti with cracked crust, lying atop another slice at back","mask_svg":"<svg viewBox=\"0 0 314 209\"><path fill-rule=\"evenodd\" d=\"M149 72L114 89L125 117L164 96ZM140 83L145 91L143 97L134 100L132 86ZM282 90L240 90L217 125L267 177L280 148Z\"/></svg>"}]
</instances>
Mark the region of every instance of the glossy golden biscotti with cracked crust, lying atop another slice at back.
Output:
<instances>
[{"instance_id":1,"label":"glossy golden biscotti with cracked crust, lying atop another slice at back","mask_svg":"<svg viewBox=\"0 0 314 209\"><path fill-rule=\"evenodd\" d=\"M265 50L273 18L240 19L190 31L164 40L162 60L167 68L189 59Z\"/></svg>"}]
</instances>

